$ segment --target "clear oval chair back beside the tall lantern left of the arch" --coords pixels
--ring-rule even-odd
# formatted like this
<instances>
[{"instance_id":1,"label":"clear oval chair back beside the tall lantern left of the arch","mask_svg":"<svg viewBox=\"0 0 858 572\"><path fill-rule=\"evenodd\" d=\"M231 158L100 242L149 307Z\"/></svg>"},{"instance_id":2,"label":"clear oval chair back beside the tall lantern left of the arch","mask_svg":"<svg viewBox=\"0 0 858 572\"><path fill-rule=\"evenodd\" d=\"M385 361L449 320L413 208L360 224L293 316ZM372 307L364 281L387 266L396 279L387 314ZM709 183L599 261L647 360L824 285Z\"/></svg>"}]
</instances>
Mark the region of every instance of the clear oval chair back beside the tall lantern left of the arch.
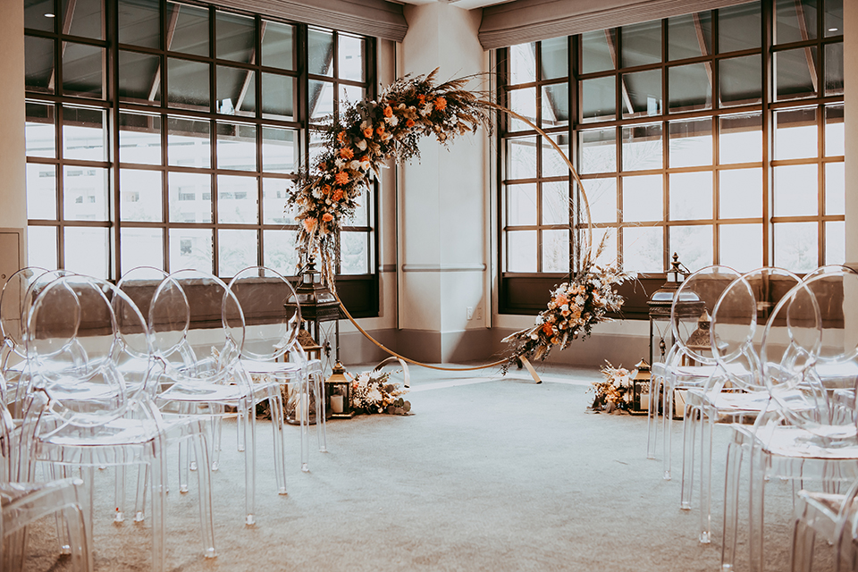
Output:
<instances>
[{"instance_id":1,"label":"clear oval chair back beside the tall lantern left of the arch","mask_svg":"<svg viewBox=\"0 0 858 572\"><path fill-rule=\"evenodd\" d=\"M298 340L301 308L297 304L286 307L295 296L295 289L281 273L265 266L249 266L241 270L229 283L230 291L239 302L246 323L258 324L255 332L244 342L241 357L272 361L292 348ZM277 317L272 318L272 314ZM224 313L232 332L239 324L230 324L235 313Z\"/></svg>"}]
</instances>

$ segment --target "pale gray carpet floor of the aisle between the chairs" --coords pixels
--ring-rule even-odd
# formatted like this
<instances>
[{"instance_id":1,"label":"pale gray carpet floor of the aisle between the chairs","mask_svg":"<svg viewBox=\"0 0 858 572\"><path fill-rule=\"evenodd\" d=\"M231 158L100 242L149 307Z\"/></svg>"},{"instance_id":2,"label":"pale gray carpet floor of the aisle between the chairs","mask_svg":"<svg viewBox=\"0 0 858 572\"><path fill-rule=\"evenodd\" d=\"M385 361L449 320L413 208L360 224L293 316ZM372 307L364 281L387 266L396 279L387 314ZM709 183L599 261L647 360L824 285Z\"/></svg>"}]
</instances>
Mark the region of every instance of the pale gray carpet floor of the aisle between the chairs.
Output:
<instances>
[{"instance_id":1,"label":"pale gray carpet floor of the aisle between the chairs","mask_svg":"<svg viewBox=\"0 0 858 572\"><path fill-rule=\"evenodd\" d=\"M270 426L261 422L253 527L243 524L235 423L225 423L222 465L213 475L218 556L202 558L196 484L192 478L191 491L180 494L171 465L167 568L719 569L728 427L714 435L714 538L704 545L697 542L698 499L694 510L679 509L682 424L674 424L675 477L665 481L660 450L656 460L645 455L646 416L588 411L587 388L601 379L598 371L542 373L536 385L516 371L501 378L412 368L414 415L329 422L329 452L311 450L309 473L299 470L299 429L289 426L286 496L276 493ZM111 469L97 472L96 487L96 570L151 569L148 524L112 522ZM772 482L766 494L767 569L786 570L792 485ZM744 570L747 547L739 538L736 568ZM822 564L827 551L820 547ZM31 528L27 571L68 567L56 554L53 518L43 519Z\"/></svg>"}]
</instances>

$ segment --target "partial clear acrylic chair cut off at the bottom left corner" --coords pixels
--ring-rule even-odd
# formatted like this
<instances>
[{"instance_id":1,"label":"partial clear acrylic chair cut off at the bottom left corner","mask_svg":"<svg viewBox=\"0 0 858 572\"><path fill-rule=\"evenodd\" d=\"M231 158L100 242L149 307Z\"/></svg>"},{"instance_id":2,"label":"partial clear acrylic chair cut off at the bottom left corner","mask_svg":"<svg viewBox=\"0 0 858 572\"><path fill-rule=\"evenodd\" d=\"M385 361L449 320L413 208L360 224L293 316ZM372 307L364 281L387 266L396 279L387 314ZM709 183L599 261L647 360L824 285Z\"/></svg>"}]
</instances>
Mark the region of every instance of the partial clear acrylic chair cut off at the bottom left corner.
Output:
<instances>
[{"instance_id":1,"label":"partial clear acrylic chair cut off at the bottom left corner","mask_svg":"<svg viewBox=\"0 0 858 572\"><path fill-rule=\"evenodd\" d=\"M31 400L44 408L48 398L37 391ZM17 467L21 454L21 428L0 403L0 569L21 572L27 557L27 526L41 517L59 513L64 517L68 536L71 568L92 572L92 553L86 534L80 479L63 479L47 483L18 483Z\"/></svg>"}]
</instances>

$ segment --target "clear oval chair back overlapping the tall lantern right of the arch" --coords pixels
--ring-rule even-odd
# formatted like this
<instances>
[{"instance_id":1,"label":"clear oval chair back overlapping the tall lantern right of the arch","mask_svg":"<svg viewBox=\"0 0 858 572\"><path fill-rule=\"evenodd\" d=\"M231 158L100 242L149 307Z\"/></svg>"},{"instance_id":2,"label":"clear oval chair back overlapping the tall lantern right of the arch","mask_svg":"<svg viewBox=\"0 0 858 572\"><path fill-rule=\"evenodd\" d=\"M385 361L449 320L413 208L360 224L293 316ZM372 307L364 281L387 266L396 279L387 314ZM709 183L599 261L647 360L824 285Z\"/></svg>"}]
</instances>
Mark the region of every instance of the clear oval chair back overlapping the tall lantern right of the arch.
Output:
<instances>
[{"instance_id":1,"label":"clear oval chair back overlapping the tall lantern right of the arch","mask_svg":"<svg viewBox=\"0 0 858 572\"><path fill-rule=\"evenodd\" d=\"M696 332L703 313L711 314L714 311L721 293L738 276L739 273L729 266L706 266L688 276L677 289L670 307L673 339L683 353L698 363L711 366L715 364L715 358L706 355L700 348L690 346L688 341Z\"/></svg>"}]
</instances>

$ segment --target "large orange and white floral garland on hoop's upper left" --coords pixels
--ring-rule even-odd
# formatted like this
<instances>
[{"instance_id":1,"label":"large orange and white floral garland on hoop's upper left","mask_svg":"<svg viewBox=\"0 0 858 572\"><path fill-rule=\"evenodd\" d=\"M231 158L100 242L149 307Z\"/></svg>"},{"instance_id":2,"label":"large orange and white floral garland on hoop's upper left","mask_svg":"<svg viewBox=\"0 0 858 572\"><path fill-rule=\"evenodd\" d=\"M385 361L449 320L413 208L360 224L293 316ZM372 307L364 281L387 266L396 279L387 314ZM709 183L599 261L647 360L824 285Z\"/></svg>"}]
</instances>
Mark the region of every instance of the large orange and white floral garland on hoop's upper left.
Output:
<instances>
[{"instance_id":1,"label":"large orange and white floral garland on hoop's upper left","mask_svg":"<svg viewBox=\"0 0 858 572\"><path fill-rule=\"evenodd\" d=\"M323 149L309 169L298 172L287 208L298 211L299 261L318 252L322 278L333 289L336 234L355 214L357 199L388 159L401 163L420 156L421 136L446 145L457 135L489 125L491 108L464 89L470 78L434 85L437 69L391 83L377 100L357 102L327 130Z\"/></svg>"}]
</instances>

